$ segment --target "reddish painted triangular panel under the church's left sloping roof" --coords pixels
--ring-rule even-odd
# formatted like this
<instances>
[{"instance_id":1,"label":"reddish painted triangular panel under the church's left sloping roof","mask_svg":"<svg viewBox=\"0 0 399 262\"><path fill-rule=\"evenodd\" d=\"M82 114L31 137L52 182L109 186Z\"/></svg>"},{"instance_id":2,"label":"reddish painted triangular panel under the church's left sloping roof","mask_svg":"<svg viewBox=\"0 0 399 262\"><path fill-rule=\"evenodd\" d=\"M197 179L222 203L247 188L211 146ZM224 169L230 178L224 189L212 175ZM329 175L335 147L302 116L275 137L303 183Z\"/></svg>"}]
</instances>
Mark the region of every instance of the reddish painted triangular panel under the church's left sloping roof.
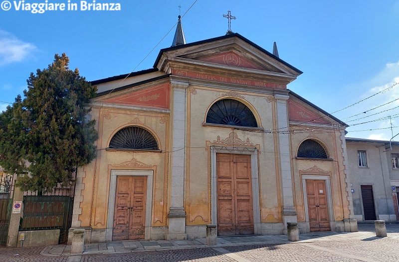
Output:
<instances>
[{"instance_id":1,"label":"reddish painted triangular panel under the church's left sloping roof","mask_svg":"<svg viewBox=\"0 0 399 262\"><path fill-rule=\"evenodd\" d=\"M106 103L169 109L169 83L105 100Z\"/></svg>"}]
</instances>

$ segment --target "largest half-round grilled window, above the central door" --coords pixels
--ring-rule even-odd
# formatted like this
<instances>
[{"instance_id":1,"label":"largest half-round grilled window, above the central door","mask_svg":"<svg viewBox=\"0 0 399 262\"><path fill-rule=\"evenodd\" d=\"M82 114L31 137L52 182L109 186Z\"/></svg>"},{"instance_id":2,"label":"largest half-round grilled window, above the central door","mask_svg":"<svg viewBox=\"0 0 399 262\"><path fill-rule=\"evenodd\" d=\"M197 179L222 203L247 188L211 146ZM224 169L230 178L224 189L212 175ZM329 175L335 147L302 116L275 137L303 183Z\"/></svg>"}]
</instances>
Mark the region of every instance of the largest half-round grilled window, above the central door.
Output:
<instances>
[{"instance_id":1,"label":"largest half-round grilled window, above the central door","mask_svg":"<svg viewBox=\"0 0 399 262\"><path fill-rule=\"evenodd\" d=\"M251 109L234 99L221 99L212 104L206 115L206 123L258 127Z\"/></svg>"}]
</instances>

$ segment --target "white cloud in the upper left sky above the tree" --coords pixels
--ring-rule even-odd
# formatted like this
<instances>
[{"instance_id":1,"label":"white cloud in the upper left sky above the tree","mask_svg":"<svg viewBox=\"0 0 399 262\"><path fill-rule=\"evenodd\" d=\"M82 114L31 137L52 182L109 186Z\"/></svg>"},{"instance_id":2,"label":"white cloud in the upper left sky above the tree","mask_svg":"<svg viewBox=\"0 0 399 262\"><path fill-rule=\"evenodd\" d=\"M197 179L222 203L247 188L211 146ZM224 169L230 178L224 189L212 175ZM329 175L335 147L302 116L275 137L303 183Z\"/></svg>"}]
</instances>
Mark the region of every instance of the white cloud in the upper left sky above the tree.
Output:
<instances>
[{"instance_id":1,"label":"white cloud in the upper left sky above the tree","mask_svg":"<svg viewBox=\"0 0 399 262\"><path fill-rule=\"evenodd\" d=\"M36 46L25 43L14 35L0 30L0 66L14 62L20 62L25 59Z\"/></svg>"}]
</instances>

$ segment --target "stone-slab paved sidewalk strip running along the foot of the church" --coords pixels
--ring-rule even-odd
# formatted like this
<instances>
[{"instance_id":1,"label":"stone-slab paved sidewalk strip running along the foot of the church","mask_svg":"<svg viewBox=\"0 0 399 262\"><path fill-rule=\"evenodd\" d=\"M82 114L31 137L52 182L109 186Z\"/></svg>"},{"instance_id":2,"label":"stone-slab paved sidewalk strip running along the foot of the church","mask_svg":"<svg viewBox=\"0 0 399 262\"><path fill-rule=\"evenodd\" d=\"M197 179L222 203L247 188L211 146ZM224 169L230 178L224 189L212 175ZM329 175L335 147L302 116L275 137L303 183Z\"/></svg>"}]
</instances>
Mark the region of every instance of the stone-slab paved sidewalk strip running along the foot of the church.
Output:
<instances>
[{"instance_id":1,"label":"stone-slab paved sidewalk strip running along the foot of the church","mask_svg":"<svg viewBox=\"0 0 399 262\"><path fill-rule=\"evenodd\" d=\"M389 233L388 238L399 241L399 233ZM216 246L212 248L238 247L238 246L256 246L256 245L282 245L282 244L298 244L313 242L329 242L340 240L373 240L380 239L372 232L354 232L354 233L336 233L336 232L314 232L300 234L298 242L288 241L285 235L272 236L237 236L237 237L218 237ZM209 248L206 245L206 239L179 240L179 241L114 241L108 243L88 244L85 245L83 255L92 254L115 254L115 253L131 253L140 251L161 251L161 250L178 250L178 249L198 249ZM57 245L45 247L40 255L43 256L79 256L70 254L71 246Z\"/></svg>"}]
</instances>

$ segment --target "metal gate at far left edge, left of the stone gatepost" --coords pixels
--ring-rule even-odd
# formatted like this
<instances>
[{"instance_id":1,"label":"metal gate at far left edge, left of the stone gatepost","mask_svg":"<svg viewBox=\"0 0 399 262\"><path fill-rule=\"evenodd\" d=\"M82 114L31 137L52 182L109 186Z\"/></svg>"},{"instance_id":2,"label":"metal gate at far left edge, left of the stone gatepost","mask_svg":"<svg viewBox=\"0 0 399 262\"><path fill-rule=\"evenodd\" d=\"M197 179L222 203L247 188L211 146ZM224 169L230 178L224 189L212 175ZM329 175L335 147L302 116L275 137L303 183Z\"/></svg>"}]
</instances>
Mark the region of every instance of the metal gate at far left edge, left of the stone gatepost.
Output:
<instances>
[{"instance_id":1,"label":"metal gate at far left edge, left of the stone gatepost","mask_svg":"<svg viewBox=\"0 0 399 262\"><path fill-rule=\"evenodd\" d=\"M0 167L0 246L7 244L8 226L12 207L12 175L2 173Z\"/></svg>"}]
</instances>

